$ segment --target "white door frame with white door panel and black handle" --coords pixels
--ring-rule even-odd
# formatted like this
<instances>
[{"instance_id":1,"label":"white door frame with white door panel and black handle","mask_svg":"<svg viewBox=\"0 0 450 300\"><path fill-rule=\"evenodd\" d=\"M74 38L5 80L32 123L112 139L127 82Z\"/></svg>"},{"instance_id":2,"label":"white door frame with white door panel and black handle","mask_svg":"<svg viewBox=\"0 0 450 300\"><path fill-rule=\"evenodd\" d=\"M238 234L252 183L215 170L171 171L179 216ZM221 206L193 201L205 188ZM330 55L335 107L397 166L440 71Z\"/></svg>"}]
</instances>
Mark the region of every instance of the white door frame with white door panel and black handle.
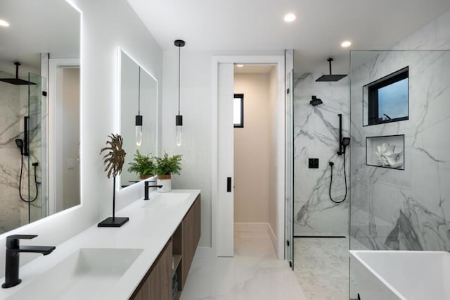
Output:
<instances>
[{"instance_id":1,"label":"white door frame with white door panel and black handle","mask_svg":"<svg viewBox=\"0 0 450 300\"><path fill-rule=\"evenodd\" d=\"M216 256L233 256L233 65L273 64L276 66L274 104L274 172L277 258L284 257L284 56L217 56L212 65L212 248Z\"/></svg>"}]
</instances>

